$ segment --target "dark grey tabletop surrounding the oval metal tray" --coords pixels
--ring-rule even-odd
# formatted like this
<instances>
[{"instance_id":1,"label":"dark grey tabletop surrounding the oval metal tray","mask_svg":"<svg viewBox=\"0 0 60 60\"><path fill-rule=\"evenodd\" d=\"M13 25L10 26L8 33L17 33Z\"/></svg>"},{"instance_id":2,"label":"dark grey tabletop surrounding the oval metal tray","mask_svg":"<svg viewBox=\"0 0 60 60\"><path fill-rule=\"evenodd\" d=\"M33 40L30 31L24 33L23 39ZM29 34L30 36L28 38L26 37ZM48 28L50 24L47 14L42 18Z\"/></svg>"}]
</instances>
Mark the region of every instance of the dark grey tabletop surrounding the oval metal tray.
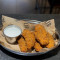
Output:
<instances>
[{"instance_id":1,"label":"dark grey tabletop surrounding the oval metal tray","mask_svg":"<svg viewBox=\"0 0 60 60\"><path fill-rule=\"evenodd\" d=\"M60 15L50 15L50 14L29 14L29 15L6 15L17 19L34 19L40 21L46 21L49 19L55 19L56 28L60 31ZM0 15L1 18L1 15ZM1 24L1 19L0 19ZM25 57L12 54L11 52L6 51L0 46L0 60L60 60L60 46L54 49L53 51L46 53L40 56Z\"/></svg>"}]
</instances>

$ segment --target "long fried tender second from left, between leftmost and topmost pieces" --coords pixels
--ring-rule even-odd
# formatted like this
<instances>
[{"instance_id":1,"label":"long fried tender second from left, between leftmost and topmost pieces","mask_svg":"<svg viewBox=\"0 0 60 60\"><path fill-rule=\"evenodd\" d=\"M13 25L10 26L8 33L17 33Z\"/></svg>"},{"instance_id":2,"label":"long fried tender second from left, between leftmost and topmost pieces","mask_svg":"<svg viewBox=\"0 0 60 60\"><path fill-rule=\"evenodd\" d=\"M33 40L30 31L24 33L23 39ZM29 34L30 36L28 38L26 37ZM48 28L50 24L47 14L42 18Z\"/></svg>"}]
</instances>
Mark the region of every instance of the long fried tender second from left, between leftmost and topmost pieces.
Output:
<instances>
[{"instance_id":1,"label":"long fried tender second from left, between leftmost and topmost pieces","mask_svg":"<svg viewBox=\"0 0 60 60\"><path fill-rule=\"evenodd\" d=\"M31 48L35 44L35 36L34 36L34 34L30 30L25 29L22 32L22 36L25 38L28 50L31 50Z\"/></svg>"}]
</instances>

